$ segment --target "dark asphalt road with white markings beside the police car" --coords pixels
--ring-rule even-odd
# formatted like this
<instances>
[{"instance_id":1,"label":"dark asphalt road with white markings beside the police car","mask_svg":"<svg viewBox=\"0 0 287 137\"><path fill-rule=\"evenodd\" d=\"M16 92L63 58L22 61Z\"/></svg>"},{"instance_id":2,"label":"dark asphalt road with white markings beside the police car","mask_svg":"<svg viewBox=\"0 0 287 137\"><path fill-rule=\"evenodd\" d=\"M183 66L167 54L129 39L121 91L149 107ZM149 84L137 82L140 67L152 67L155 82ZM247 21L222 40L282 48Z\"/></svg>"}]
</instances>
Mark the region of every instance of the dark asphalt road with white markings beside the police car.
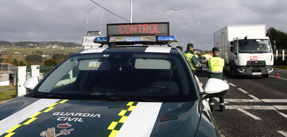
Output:
<instances>
[{"instance_id":1,"label":"dark asphalt road with white markings beside the police car","mask_svg":"<svg viewBox=\"0 0 287 137\"><path fill-rule=\"evenodd\" d=\"M277 76L277 72L280 76ZM208 70L197 76L203 84L208 80ZM229 90L225 97L225 112L219 110L219 99L215 98L212 113L221 135L287 137L287 71L274 70L268 78L262 76L240 76L234 79L225 74Z\"/></svg>"}]
</instances>

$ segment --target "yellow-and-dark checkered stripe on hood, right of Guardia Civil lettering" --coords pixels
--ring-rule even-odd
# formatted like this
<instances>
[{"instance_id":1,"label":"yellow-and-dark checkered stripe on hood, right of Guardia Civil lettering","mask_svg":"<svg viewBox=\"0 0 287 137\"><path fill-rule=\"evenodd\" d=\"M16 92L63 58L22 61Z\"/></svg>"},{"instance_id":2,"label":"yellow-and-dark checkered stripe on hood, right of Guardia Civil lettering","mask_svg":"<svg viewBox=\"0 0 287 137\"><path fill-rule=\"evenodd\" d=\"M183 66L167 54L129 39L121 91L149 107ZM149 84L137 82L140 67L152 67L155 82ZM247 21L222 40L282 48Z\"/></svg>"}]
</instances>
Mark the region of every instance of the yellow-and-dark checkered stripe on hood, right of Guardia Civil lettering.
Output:
<instances>
[{"instance_id":1,"label":"yellow-and-dark checkered stripe on hood, right of Guardia Civil lettering","mask_svg":"<svg viewBox=\"0 0 287 137\"><path fill-rule=\"evenodd\" d=\"M138 102L129 102L110 124L102 137L115 137L137 104Z\"/></svg>"}]
</instances>

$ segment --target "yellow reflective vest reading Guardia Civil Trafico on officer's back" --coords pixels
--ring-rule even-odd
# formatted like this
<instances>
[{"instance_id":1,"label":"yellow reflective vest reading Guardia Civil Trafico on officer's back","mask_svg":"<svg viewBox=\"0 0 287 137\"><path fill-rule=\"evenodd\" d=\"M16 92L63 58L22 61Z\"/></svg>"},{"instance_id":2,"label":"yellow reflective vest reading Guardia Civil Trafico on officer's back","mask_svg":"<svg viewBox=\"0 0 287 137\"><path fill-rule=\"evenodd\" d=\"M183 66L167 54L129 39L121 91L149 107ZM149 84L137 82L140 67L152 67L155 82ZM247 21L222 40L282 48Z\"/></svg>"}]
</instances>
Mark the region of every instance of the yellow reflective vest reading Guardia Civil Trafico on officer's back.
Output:
<instances>
[{"instance_id":1,"label":"yellow reflective vest reading Guardia Civil Trafico on officer's back","mask_svg":"<svg viewBox=\"0 0 287 137\"><path fill-rule=\"evenodd\" d=\"M220 57L212 57L209 58L208 60L208 71L209 72L214 72L214 73L219 73L223 71L223 66L224 66L224 59Z\"/></svg>"}]
</instances>

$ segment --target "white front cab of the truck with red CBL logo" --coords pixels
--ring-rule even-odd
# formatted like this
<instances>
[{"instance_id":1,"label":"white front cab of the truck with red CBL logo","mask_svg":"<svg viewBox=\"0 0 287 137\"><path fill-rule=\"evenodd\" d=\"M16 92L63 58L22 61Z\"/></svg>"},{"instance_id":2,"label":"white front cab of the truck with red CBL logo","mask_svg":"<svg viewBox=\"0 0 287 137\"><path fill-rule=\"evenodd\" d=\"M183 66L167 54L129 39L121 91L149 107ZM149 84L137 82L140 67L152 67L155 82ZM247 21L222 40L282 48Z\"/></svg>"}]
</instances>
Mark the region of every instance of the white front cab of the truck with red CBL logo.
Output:
<instances>
[{"instance_id":1,"label":"white front cab of the truck with red CBL logo","mask_svg":"<svg viewBox=\"0 0 287 137\"><path fill-rule=\"evenodd\" d=\"M262 75L273 73L273 54L268 37L236 37L230 42L231 74Z\"/></svg>"}]
</instances>

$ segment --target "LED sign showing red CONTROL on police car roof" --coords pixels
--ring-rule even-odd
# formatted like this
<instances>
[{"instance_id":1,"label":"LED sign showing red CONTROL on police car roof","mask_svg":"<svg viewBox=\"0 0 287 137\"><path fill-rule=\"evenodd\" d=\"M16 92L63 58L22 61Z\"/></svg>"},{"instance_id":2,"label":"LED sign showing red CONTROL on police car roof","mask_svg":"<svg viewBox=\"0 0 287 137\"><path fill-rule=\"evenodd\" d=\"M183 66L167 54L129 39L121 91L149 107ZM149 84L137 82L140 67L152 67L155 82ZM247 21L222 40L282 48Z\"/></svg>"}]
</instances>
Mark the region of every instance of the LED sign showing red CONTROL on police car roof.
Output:
<instances>
[{"instance_id":1,"label":"LED sign showing red CONTROL on police car roof","mask_svg":"<svg viewBox=\"0 0 287 137\"><path fill-rule=\"evenodd\" d=\"M107 36L169 35L169 22L107 24Z\"/></svg>"}]
</instances>

